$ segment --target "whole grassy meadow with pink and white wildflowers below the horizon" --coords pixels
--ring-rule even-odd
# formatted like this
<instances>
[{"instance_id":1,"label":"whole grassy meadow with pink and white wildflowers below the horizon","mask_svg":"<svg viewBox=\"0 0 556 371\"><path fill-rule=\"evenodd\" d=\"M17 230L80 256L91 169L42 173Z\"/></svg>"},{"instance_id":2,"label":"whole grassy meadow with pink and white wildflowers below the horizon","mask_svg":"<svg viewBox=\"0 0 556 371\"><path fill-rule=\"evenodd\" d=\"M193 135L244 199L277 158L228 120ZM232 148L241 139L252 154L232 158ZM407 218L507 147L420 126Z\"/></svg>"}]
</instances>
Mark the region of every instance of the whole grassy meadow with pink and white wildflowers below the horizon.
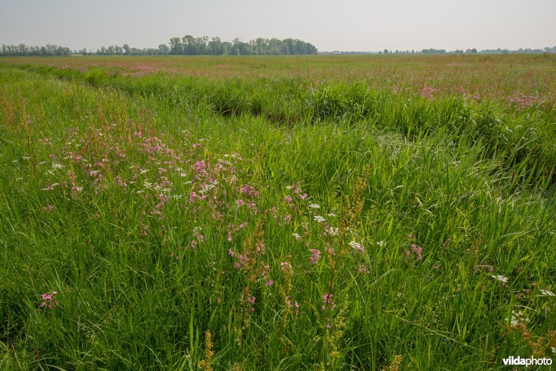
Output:
<instances>
[{"instance_id":1,"label":"whole grassy meadow with pink and white wildflowers below the horizon","mask_svg":"<svg viewBox=\"0 0 556 371\"><path fill-rule=\"evenodd\" d=\"M0 60L0 369L556 358L555 56Z\"/></svg>"}]
</instances>

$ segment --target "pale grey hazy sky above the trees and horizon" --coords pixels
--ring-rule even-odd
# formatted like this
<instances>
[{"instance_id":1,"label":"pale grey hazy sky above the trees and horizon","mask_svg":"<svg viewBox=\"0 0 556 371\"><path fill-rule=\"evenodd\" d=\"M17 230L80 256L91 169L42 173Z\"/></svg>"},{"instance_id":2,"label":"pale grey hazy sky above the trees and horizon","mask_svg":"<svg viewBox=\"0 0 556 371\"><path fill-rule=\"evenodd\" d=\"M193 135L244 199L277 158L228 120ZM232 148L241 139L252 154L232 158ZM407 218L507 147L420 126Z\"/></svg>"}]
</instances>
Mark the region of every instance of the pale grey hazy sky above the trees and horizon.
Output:
<instances>
[{"instance_id":1,"label":"pale grey hazy sky above the trees and horizon","mask_svg":"<svg viewBox=\"0 0 556 371\"><path fill-rule=\"evenodd\" d=\"M556 45L556 0L0 0L0 44L158 47L298 38L321 51Z\"/></svg>"}]
</instances>

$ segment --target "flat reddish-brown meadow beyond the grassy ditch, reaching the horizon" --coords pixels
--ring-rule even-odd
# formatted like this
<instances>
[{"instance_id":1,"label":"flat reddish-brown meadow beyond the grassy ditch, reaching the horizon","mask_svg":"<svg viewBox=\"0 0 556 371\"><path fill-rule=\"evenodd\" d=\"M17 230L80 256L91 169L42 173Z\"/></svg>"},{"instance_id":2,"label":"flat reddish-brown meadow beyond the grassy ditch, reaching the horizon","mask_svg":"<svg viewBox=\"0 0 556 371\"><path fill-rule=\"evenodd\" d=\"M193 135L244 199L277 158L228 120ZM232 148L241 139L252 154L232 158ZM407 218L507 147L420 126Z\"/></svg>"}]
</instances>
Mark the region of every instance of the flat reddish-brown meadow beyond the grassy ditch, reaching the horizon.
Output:
<instances>
[{"instance_id":1,"label":"flat reddish-brown meadow beyond the grassy ditch, reaching the horizon","mask_svg":"<svg viewBox=\"0 0 556 371\"><path fill-rule=\"evenodd\" d=\"M377 89L479 94L508 98L538 97L554 104L556 56L246 56L246 57L83 57L3 58L15 64L48 65L80 71L103 67L108 72L142 76L168 72L180 76L227 78L293 78L313 84L364 81Z\"/></svg>"}]
</instances>

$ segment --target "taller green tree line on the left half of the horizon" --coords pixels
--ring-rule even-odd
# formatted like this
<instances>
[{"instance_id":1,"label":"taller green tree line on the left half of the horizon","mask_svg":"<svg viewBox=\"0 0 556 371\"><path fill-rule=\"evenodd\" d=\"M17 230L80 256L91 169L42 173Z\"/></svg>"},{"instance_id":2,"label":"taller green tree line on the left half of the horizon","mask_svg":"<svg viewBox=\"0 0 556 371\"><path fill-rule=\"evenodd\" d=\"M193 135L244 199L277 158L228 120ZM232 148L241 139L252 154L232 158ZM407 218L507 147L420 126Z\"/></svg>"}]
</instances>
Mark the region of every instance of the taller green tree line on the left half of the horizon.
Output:
<instances>
[{"instance_id":1,"label":"taller green tree line on the left half of the horizon","mask_svg":"<svg viewBox=\"0 0 556 371\"><path fill-rule=\"evenodd\" d=\"M97 51L83 48L71 51L66 47L47 45L46 47L28 47L25 44L2 45L0 56L69 56L72 53L84 56L253 56L253 55L295 55L316 54L317 48L309 42L297 39L257 38L249 42L235 38L231 42L220 38L208 39L207 36L195 38L191 35L183 38L171 38L168 44L160 44L158 48L132 48L128 44L121 47L112 45L101 47Z\"/></svg>"}]
</instances>

